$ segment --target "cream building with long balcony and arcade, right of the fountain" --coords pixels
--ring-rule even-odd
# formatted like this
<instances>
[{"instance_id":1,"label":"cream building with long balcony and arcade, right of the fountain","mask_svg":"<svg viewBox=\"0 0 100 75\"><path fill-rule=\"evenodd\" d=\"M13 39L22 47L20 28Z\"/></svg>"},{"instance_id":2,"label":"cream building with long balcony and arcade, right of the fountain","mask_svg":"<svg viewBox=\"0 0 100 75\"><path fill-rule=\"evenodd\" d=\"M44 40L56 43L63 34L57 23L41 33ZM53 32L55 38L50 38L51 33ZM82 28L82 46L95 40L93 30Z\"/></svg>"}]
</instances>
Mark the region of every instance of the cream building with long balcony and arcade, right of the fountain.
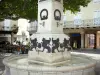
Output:
<instances>
[{"instance_id":1,"label":"cream building with long balcony and arcade, right of the fountain","mask_svg":"<svg viewBox=\"0 0 100 75\"><path fill-rule=\"evenodd\" d=\"M100 0L91 0L77 14L66 11L64 33L70 36L72 48L100 48Z\"/></svg>"}]
</instances>

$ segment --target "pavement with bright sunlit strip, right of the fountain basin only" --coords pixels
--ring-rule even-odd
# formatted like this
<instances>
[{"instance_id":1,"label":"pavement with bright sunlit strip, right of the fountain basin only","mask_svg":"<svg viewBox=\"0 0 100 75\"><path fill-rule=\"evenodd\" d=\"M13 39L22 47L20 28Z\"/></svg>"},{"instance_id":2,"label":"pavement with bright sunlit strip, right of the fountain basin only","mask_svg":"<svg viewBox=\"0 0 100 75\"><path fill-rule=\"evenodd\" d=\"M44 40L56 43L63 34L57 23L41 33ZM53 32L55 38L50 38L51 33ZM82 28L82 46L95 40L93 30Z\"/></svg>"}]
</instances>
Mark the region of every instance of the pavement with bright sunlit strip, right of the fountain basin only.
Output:
<instances>
[{"instance_id":1,"label":"pavement with bright sunlit strip, right of the fountain basin only","mask_svg":"<svg viewBox=\"0 0 100 75\"><path fill-rule=\"evenodd\" d=\"M95 73L96 75L100 75L100 49L74 50L71 53L89 56L94 59L96 61Z\"/></svg>"}]
</instances>

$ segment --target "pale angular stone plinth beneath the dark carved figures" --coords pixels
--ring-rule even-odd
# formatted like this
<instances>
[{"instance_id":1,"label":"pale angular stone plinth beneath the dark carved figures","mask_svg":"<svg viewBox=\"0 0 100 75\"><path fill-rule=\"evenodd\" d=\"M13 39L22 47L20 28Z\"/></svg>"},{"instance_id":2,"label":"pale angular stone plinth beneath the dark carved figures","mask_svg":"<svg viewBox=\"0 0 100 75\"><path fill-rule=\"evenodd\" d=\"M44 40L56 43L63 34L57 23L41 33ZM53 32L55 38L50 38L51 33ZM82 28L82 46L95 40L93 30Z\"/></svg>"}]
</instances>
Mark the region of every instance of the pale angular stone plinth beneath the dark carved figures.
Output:
<instances>
[{"instance_id":1,"label":"pale angular stone plinth beneath the dark carved figures","mask_svg":"<svg viewBox=\"0 0 100 75\"><path fill-rule=\"evenodd\" d=\"M57 53L46 53L46 52L28 52L29 63L37 63L48 66L59 66L60 64L66 64L71 59L70 51L57 52Z\"/></svg>"}]
</instances>

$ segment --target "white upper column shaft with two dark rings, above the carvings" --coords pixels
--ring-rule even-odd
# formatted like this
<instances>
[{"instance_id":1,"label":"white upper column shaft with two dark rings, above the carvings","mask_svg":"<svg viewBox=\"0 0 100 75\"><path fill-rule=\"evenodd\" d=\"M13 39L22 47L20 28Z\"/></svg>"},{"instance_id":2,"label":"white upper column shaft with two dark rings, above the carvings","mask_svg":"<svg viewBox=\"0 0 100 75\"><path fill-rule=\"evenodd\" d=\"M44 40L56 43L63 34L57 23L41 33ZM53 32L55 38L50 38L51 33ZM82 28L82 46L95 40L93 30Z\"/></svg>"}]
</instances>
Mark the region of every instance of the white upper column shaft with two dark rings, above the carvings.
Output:
<instances>
[{"instance_id":1,"label":"white upper column shaft with two dark rings, above the carvings","mask_svg":"<svg viewBox=\"0 0 100 75\"><path fill-rule=\"evenodd\" d=\"M63 33L63 0L38 0L38 32Z\"/></svg>"}]
</instances>

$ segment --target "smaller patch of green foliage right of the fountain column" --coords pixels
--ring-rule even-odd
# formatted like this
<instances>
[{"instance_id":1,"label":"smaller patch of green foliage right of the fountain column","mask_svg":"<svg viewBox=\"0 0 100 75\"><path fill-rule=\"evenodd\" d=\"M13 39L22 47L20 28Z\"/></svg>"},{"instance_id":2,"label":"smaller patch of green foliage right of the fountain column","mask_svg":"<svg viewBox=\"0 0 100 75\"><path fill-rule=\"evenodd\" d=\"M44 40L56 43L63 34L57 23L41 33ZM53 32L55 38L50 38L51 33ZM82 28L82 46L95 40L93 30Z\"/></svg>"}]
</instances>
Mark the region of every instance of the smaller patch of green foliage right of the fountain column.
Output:
<instances>
[{"instance_id":1,"label":"smaller patch of green foliage right of the fountain column","mask_svg":"<svg viewBox=\"0 0 100 75\"><path fill-rule=\"evenodd\" d=\"M72 13L79 12L81 6L86 7L90 2L91 0L64 0L64 11L70 10Z\"/></svg>"}]
</instances>

